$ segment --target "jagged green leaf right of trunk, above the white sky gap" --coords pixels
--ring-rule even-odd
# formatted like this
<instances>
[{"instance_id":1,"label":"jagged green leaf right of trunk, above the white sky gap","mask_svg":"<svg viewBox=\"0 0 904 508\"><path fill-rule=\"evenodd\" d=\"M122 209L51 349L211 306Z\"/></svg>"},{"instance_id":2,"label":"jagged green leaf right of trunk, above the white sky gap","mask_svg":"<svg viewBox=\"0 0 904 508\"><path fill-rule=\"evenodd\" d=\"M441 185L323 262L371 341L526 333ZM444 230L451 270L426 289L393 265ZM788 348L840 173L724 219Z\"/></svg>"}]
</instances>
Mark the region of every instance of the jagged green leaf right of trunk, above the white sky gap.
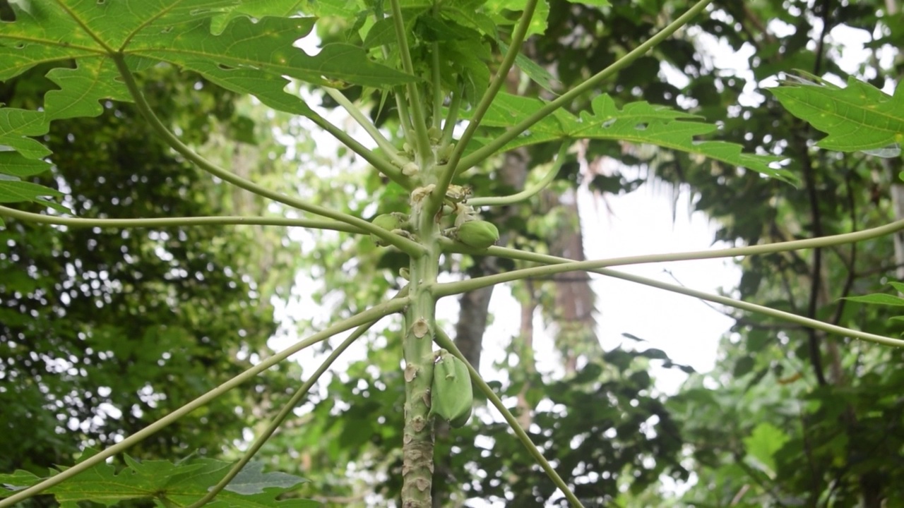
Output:
<instances>
[{"instance_id":1,"label":"jagged green leaf right of trunk, above the white sky gap","mask_svg":"<svg viewBox=\"0 0 904 508\"><path fill-rule=\"evenodd\" d=\"M541 99L502 93L487 111L481 125L513 127L543 105ZM619 109L615 101L606 94L593 99L591 108L591 112L583 111L579 116L560 109L534 124L503 149L567 138L622 140L703 155L788 183L797 181L795 174L771 167L784 157L745 154L741 151L741 146L734 143L699 140L698 136L711 134L718 127L698 121L699 117L696 115L647 102L631 102Z\"/></svg>"}]
</instances>

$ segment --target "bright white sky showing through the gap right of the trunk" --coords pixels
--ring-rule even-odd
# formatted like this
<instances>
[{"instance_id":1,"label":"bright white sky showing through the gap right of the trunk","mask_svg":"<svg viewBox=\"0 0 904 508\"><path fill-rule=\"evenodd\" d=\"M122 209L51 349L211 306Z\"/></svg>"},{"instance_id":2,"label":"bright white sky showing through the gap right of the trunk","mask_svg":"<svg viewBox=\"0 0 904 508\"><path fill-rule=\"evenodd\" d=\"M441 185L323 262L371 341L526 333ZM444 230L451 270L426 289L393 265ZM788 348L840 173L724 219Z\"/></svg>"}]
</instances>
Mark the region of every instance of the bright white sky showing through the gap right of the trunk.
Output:
<instances>
[{"instance_id":1,"label":"bright white sky showing through the gap right of the trunk","mask_svg":"<svg viewBox=\"0 0 904 508\"><path fill-rule=\"evenodd\" d=\"M716 249L711 246L713 229L702 212L689 213L690 194L683 192L676 205L673 222L671 195L657 193L649 185L634 193L607 196L607 207L595 205L587 192L579 193L585 250L588 259L605 259L637 254L681 250ZM617 268L620 271L657 278L708 292L737 284L740 272L725 259L706 259L656 263ZM665 270L671 272L671 275ZM598 336L606 350L623 347L664 350L674 362L691 365L698 372L711 370L716 343L731 325L731 320L711 307L689 296L677 295L653 287L645 287L616 278L593 276L592 287L597 296ZM493 362L504 358L509 337L518 334L517 303L507 288L497 288L491 303L496 314L485 334L485 357L482 361L487 377ZM504 315L513 316L504 318ZM548 334L543 332L539 313L534 327L536 358L541 372L560 372L559 356ZM623 333L647 341L636 343ZM686 377L675 370L654 369L660 390L674 392Z\"/></svg>"}]
</instances>

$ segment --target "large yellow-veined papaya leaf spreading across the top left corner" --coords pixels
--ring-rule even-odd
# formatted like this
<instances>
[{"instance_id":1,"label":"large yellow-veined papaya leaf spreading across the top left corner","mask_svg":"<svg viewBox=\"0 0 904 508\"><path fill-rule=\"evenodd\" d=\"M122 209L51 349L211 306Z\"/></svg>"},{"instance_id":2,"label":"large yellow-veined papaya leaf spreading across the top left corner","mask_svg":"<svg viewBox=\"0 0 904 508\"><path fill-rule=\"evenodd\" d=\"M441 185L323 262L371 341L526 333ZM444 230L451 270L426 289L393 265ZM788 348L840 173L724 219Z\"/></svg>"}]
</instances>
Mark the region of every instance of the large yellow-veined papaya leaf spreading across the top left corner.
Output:
<instances>
[{"instance_id":1,"label":"large yellow-veined papaya leaf spreading across the top left corner","mask_svg":"<svg viewBox=\"0 0 904 508\"><path fill-rule=\"evenodd\" d=\"M232 0L67 0L35 3L28 11L15 5L14 9L16 21L4 23L0 33L0 61L5 64L0 80L37 63L103 58L115 52L188 69L197 61L210 61L224 70L250 68L274 79L285 75L321 84L342 80L389 88L415 80L371 61L363 49L348 44L328 44L314 56L293 46L310 33L316 18L248 17L294 10L275 0L238 11ZM214 15L216 24L211 20Z\"/></svg>"}]
</instances>

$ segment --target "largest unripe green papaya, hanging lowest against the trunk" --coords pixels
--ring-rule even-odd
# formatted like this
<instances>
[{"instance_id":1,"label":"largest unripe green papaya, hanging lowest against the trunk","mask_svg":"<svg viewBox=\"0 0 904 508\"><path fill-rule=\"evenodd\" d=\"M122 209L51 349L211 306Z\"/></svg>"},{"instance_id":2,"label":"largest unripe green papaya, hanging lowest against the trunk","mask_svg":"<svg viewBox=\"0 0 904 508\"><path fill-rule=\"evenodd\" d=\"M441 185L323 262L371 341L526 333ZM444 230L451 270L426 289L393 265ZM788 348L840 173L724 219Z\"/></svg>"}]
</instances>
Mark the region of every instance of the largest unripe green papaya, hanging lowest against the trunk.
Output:
<instances>
[{"instance_id":1,"label":"largest unripe green papaya, hanging lowest against the trunk","mask_svg":"<svg viewBox=\"0 0 904 508\"><path fill-rule=\"evenodd\" d=\"M445 349L439 350L430 387L430 415L445 419L455 428L471 418L474 390L465 362Z\"/></svg>"}]
</instances>

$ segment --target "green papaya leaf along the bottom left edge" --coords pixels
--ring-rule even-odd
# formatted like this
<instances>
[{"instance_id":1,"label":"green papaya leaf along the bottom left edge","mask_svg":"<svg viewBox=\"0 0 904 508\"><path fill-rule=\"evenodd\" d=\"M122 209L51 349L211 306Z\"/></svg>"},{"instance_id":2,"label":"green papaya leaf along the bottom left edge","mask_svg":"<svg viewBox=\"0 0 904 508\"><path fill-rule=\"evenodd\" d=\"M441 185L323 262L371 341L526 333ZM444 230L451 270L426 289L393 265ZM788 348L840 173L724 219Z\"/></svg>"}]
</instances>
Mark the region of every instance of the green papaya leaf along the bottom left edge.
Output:
<instances>
[{"instance_id":1,"label":"green papaya leaf along the bottom left edge","mask_svg":"<svg viewBox=\"0 0 904 508\"><path fill-rule=\"evenodd\" d=\"M97 452L89 449L82 459ZM126 457L126 467L120 471L109 464L99 464L62 484L45 491L53 494L61 505L93 502L113 505L127 500L153 500L165 506L188 506L207 494L210 487L229 472L232 464L210 458L188 458L178 463L166 460L139 462ZM321 503L308 499L276 501L297 484L306 482L299 476L285 473L263 473L263 465L250 463L218 494L208 506L218 508L252 508L278 506L281 508L315 508ZM24 487L37 484L43 478L25 471L0 475L0 498L14 494Z\"/></svg>"}]
</instances>

